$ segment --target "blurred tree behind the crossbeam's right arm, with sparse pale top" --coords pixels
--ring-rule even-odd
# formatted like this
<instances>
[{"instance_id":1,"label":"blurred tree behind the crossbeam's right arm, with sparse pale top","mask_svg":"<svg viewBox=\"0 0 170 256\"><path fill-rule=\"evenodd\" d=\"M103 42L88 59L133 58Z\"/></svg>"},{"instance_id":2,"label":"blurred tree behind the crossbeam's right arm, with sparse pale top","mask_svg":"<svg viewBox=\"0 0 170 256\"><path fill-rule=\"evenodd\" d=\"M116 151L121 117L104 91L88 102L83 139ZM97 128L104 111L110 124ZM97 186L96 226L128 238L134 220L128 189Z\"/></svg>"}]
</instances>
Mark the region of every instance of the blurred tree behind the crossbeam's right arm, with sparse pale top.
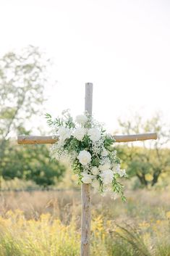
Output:
<instances>
[{"instance_id":1,"label":"blurred tree behind the crossbeam's right arm, with sparse pale top","mask_svg":"<svg viewBox=\"0 0 170 256\"><path fill-rule=\"evenodd\" d=\"M119 147L119 154L127 162L129 176L136 176L143 186L154 186L162 173L170 171L170 149L167 148L170 141L169 128L159 113L145 122L142 117L135 115L127 122L119 120L119 125L122 133L158 133L156 141L143 141L143 146L127 144Z\"/></svg>"}]
</instances>

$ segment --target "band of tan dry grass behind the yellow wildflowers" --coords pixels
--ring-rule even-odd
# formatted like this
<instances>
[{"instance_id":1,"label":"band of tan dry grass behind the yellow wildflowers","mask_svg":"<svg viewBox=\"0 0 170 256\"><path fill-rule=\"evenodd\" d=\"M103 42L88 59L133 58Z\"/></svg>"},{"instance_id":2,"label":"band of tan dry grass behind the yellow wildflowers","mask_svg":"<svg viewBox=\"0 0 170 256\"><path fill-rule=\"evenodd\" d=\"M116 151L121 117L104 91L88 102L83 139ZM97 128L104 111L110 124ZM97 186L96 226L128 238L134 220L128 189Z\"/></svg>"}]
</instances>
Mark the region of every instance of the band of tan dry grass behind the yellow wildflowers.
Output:
<instances>
[{"instance_id":1,"label":"band of tan dry grass behind the yellow wildflowers","mask_svg":"<svg viewBox=\"0 0 170 256\"><path fill-rule=\"evenodd\" d=\"M164 191L138 190L126 191L127 202L121 199L110 199L92 194L92 212L94 215L104 215L109 220L149 220L164 218L170 210L169 189ZM80 218L80 191L21 191L1 192L0 212L4 215L8 210L22 210L25 218L35 218L41 214L50 213L54 218L70 220L72 216Z\"/></svg>"}]
</instances>

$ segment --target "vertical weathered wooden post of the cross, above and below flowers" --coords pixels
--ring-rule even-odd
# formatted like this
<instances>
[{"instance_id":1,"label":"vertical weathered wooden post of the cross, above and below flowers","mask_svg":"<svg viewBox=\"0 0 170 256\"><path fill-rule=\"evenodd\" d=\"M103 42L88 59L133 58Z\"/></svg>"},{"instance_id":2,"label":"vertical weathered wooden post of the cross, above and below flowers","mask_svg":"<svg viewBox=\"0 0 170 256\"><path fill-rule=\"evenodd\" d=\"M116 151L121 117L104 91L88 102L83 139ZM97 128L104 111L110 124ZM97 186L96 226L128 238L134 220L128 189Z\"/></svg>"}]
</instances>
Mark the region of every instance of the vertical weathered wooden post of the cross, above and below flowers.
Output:
<instances>
[{"instance_id":1,"label":"vertical weathered wooden post of the cross, above and below flowers","mask_svg":"<svg viewBox=\"0 0 170 256\"><path fill-rule=\"evenodd\" d=\"M85 83L85 111L92 115L93 83ZM90 256L90 184L82 183L81 256Z\"/></svg>"}]
</instances>

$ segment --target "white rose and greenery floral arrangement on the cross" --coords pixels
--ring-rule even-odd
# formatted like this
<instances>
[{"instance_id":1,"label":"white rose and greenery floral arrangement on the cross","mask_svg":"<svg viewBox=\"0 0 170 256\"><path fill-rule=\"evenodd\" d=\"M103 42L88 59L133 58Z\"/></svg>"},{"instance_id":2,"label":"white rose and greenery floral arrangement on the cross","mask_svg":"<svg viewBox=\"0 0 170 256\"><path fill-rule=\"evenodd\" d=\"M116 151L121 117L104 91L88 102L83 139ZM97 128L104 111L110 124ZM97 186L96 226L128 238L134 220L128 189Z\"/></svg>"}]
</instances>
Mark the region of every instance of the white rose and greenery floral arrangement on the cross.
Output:
<instances>
[{"instance_id":1,"label":"white rose and greenery floral arrangement on the cross","mask_svg":"<svg viewBox=\"0 0 170 256\"><path fill-rule=\"evenodd\" d=\"M119 178L126 176L126 172L120 168L121 160L113 147L114 137L106 133L103 125L88 112L77 115L75 121L69 110L54 120L46 114L46 119L53 128L53 138L57 139L51 146L51 157L56 160L69 157L80 183L90 183L103 195L115 198L121 194L125 199Z\"/></svg>"}]
</instances>

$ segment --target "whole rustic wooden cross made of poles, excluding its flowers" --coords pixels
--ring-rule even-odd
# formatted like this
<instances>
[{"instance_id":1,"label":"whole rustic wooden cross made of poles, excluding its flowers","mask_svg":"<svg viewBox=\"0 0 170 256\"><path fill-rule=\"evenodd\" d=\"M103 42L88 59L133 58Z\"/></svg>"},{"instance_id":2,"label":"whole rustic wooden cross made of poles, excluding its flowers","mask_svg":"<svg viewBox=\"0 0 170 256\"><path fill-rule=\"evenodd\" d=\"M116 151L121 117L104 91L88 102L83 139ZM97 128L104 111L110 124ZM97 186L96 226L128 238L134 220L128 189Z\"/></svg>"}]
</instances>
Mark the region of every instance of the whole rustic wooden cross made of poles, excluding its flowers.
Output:
<instances>
[{"instance_id":1,"label":"whole rustic wooden cross made of poles, excluding its flowers","mask_svg":"<svg viewBox=\"0 0 170 256\"><path fill-rule=\"evenodd\" d=\"M85 111L92 115L93 83L85 84ZM157 139L156 133L114 136L116 142ZM18 136L18 144L54 144L52 136ZM90 256L90 184L82 183L81 256Z\"/></svg>"}]
</instances>

